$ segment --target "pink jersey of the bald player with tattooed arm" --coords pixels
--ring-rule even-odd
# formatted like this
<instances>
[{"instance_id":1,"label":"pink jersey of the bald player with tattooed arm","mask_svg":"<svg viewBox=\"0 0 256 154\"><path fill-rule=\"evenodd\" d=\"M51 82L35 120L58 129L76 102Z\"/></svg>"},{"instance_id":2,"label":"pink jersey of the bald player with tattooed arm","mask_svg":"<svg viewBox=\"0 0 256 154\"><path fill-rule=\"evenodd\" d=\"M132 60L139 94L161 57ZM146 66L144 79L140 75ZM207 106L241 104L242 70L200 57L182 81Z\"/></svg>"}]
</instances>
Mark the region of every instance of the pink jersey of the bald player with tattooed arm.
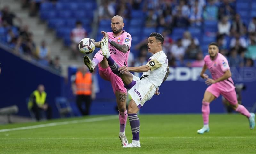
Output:
<instances>
[{"instance_id":1,"label":"pink jersey of the bald player with tattooed arm","mask_svg":"<svg viewBox=\"0 0 256 154\"><path fill-rule=\"evenodd\" d=\"M132 37L129 33L123 31L121 35L114 37L113 32L108 32L108 37L115 41L116 43L120 45L126 45L129 47L129 50L127 53L123 53L119 50L117 50L114 46L112 46L110 43L108 43L108 48L111 57L116 61L116 63L121 66L127 66L127 60L129 57L131 44L132 44Z\"/></svg>"}]
</instances>

